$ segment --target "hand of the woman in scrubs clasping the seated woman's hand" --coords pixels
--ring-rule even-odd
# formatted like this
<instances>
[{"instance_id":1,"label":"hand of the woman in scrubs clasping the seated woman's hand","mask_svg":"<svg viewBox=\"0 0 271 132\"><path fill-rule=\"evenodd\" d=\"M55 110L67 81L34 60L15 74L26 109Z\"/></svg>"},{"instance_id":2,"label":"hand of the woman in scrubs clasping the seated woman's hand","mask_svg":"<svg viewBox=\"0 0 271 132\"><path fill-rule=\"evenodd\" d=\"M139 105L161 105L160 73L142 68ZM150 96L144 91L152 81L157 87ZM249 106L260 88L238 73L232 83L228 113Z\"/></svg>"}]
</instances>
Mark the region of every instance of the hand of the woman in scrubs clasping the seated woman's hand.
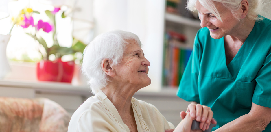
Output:
<instances>
[{"instance_id":1,"label":"hand of the woman in scrubs clasping the seated woman's hand","mask_svg":"<svg viewBox=\"0 0 271 132\"><path fill-rule=\"evenodd\" d=\"M188 112L190 113L191 118L195 118L196 121L200 122L199 127L203 131L209 129L211 122L216 124L215 120L213 119L213 111L208 106L192 102L187 107L186 113ZM184 119L185 116L181 114L181 118Z\"/></svg>"}]
</instances>

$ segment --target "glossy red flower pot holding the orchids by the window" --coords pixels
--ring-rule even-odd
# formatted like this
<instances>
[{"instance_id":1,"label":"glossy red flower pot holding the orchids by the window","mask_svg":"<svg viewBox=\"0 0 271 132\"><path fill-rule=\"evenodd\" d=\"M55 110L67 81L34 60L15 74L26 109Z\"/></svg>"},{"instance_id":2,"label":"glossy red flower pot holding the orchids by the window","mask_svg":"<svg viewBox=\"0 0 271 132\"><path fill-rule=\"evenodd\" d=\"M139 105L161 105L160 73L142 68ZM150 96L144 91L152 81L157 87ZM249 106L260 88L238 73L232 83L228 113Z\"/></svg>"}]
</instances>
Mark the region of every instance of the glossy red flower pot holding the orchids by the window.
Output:
<instances>
[{"instance_id":1,"label":"glossy red flower pot holding the orchids by the window","mask_svg":"<svg viewBox=\"0 0 271 132\"><path fill-rule=\"evenodd\" d=\"M71 82L74 62L41 60L37 63L37 78L39 81Z\"/></svg>"}]
</instances>

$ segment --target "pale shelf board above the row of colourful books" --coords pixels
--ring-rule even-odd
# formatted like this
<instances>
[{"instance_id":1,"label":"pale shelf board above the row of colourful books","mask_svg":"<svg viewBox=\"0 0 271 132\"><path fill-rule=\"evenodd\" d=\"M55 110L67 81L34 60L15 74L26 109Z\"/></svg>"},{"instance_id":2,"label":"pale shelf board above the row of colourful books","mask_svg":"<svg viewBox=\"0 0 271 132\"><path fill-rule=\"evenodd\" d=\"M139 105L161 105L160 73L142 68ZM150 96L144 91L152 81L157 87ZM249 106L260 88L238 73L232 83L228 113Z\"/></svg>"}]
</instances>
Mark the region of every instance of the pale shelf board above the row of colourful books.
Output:
<instances>
[{"instance_id":1,"label":"pale shelf board above the row of colourful books","mask_svg":"<svg viewBox=\"0 0 271 132\"><path fill-rule=\"evenodd\" d=\"M170 14L170 13L165 13L165 19L167 21L172 21L175 23L180 23L180 24L200 28L200 21L199 20L185 18L183 16L178 16L178 15Z\"/></svg>"}]
</instances>

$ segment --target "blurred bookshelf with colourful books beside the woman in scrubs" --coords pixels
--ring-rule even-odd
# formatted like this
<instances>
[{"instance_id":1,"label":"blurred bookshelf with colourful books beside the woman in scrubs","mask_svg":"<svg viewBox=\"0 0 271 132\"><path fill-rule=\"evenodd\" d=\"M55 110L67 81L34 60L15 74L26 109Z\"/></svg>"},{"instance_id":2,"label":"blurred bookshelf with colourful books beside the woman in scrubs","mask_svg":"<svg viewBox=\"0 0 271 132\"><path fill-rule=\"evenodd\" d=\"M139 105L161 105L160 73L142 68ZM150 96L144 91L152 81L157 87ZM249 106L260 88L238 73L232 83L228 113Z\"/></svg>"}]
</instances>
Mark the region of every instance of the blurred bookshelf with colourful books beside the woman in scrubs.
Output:
<instances>
[{"instance_id":1,"label":"blurred bookshelf with colourful books beside the woman in scrubs","mask_svg":"<svg viewBox=\"0 0 271 132\"><path fill-rule=\"evenodd\" d=\"M179 1L176 6L168 2ZM181 5L185 0L165 0L162 88L177 89L193 49L200 20ZM172 10L172 8L174 8ZM180 9L182 8L182 9ZM172 11L172 12L169 12Z\"/></svg>"}]
</instances>

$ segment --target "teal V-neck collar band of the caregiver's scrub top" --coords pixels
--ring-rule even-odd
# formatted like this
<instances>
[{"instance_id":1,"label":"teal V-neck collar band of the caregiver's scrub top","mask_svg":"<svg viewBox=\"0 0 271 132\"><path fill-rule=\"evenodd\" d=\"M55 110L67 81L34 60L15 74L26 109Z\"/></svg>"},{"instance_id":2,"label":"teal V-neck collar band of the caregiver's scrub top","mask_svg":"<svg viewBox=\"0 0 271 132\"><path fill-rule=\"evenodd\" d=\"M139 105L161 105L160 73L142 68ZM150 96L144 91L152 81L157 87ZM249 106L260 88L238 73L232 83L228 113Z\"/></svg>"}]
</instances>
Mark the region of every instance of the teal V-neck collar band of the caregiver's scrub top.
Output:
<instances>
[{"instance_id":1,"label":"teal V-neck collar band of the caregiver's scrub top","mask_svg":"<svg viewBox=\"0 0 271 132\"><path fill-rule=\"evenodd\" d=\"M247 39L245 40L244 44L241 46L241 48L239 49L239 51L237 52L237 54L235 55L235 57L233 58L233 60L231 60L231 62L227 65L226 63L226 52L225 52L225 41L224 41L224 37L221 38L221 40L223 41L222 44L222 51L223 51L223 56L224 56L224 60L223 60L223 66L224 68L227 69L227 72L231 75L232 79L236 79L244 61L246 60L248 54L250 53L252 47L254 44L250 43L250 38L255 38L257 37L257 35L255 34L255 26L257 25L257 22L255 22L254 27L252 29L252 31L250 32L250 34L248 35Z\"/></svg>"}]
</instances>

